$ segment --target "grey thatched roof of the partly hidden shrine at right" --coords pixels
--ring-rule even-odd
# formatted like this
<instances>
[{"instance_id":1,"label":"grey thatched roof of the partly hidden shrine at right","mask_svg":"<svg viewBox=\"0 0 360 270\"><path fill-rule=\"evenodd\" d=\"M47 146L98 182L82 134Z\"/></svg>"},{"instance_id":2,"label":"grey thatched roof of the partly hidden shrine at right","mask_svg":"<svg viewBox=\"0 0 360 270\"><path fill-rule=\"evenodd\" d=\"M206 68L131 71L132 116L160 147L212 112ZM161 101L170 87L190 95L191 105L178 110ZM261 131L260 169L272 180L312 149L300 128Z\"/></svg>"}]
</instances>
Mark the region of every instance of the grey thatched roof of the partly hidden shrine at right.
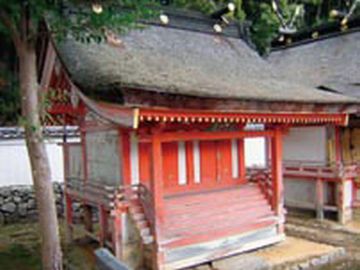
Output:
<instances>
[{"instance_id":1,"label":"grey thatched roof of the partly hidden shrine at right","mask_svg":"<svg viewBox=\"0 0 360 270\"><path fill-rule=\"evenodd\" d=\"M360 97L360 32L277 50L268 61L284 79Z\"/></svg>"}]
</instances>

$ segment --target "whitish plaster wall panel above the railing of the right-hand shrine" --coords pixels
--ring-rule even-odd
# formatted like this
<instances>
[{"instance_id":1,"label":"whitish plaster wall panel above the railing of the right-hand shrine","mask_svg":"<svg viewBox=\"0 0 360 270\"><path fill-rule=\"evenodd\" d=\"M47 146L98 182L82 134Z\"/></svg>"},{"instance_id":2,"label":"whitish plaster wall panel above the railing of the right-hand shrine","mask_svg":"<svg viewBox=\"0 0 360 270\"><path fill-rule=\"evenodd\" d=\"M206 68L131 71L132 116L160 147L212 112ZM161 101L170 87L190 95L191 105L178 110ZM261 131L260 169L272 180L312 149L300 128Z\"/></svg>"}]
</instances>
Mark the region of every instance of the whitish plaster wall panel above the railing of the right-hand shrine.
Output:
<instances>
[{"instance_id":1,"label":"whitish plaster wall panel above the railing of the right-hand shrine","mask_svg":"<svg viewBox=\"0 0 360 270\"><path fill-rule=\"evenodd\" d=\"M315 161L325 163L326 128L300 127L291 128L284 136L284 160Z\"/></svg>"}]
</instances>

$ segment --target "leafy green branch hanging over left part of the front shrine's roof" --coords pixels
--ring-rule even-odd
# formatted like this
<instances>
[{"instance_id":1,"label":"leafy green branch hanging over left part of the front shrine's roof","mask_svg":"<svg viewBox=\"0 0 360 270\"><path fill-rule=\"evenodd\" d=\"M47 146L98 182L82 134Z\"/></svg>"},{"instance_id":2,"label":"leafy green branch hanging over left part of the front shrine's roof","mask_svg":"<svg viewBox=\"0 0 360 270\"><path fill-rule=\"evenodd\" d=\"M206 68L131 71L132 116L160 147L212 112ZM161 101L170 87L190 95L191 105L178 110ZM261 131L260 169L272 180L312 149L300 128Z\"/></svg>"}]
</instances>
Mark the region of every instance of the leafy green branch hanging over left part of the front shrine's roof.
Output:
<instances>
[{"instance_id":1,"label":"leafy green branch hanging over left part of the front shrine's roof","mask_svg":"<svg viewBox=\"0 0 360 270\"><path fill-rule=\"evenodd\" d=\"M123 33L139 27L138 21L155 16L155 1L103 1L99 14L90 4L72 4L61 12L47 11L52 32L59 38L71 34L82 42L101 42L109 32ZM64 16L67 20L64 20Z\"/></svg>"}]
</instances>

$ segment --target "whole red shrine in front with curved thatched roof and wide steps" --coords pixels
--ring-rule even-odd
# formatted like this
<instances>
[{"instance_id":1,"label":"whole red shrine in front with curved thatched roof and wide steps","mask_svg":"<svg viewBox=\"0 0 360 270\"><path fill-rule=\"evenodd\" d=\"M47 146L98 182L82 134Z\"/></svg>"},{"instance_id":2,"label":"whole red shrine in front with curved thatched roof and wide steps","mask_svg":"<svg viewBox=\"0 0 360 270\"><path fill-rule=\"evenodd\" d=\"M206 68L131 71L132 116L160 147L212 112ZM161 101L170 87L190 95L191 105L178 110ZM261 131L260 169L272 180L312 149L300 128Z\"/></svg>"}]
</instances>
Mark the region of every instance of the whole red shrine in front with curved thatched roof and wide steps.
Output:
<instances>
[{"instance_id":1,"label":"whole red shrine in front with curved thatched roof and wide steps","mask_svg":"<svg viewBox=\"0 0 360 270\"><path fill-rule=\"evenodd\" d=\"M68 235L81 202L82 228L132 268L180 269L283 240L283 138L346 126L357 107L279 79L237 27L214 34L198 16L42 51L51 119L81 133L64 141ZM247 138L267 142L262 174L246 168Z\"/></svg>"}]
</instances>

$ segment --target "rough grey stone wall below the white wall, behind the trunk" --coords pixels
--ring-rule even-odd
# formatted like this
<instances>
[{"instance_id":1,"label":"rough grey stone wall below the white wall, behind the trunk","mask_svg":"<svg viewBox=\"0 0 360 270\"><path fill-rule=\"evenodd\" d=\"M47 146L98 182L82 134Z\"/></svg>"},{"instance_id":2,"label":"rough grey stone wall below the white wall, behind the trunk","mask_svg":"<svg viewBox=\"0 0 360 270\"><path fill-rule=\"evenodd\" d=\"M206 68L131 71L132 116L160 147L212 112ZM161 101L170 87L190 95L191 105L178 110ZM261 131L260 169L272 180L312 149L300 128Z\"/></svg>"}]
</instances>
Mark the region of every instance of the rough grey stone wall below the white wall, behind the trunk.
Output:
<instances>
[{"instance_id":1,"label":"rough grey stone wall below the white wall, behind the trunk","mask_svg":"<svg viewBox=\"0 0 360 270\"><path fill-rule=\"evenodd\" d=\"M64 214L63 184L54 183L58 216ZM0 188L0 225L37 218L35 193L32 186Z\"/></svg>"}]
</instances>

